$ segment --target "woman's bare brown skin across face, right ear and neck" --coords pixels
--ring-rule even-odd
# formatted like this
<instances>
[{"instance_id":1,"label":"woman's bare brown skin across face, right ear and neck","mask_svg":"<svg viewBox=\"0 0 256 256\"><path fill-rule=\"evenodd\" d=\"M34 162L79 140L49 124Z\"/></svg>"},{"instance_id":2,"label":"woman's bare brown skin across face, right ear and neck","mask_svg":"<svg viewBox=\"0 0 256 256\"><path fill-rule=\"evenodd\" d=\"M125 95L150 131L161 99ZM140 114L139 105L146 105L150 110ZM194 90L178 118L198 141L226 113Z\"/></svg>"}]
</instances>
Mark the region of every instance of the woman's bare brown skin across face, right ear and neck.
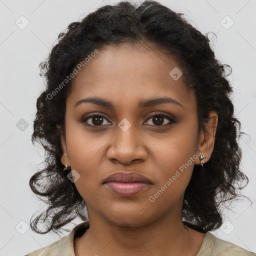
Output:
<instances>
[{"instance_id":1,"label":"woman's bare brown skin across face, right ear and neck","mask_svg":"<svg viewBox=\"0 0 256 256\"><path fill-rule=\"evenodd\" d=\"M206 132L198 133L194 94L184 76L174 80L169 75L174 67L182 70L174 57L153 45L108 45L73 78L66 98L61 162L80 175L75 186L86 201L90 223L74 239L76 256L196 255L199 251L205 234L187 228L181 218L183 194L199 157L154 202L148 199L196 151L207 162L214 146L217 114L209 112ZM114 108L89 102L74 107L78 100L94 96L112 101ZM162 96L183 106L169 102L137 106L140 100ZM81 123L88 113L103 116L99 124L103 127L96 126L93 117ZM173 116L175 121L164 117L157 122L150 113ZM131 124L125 132L118 126L123 118ZM102 182L120 170L139 172L152 184L131 197L117 195Z\"/></svg>"}]
</instances>

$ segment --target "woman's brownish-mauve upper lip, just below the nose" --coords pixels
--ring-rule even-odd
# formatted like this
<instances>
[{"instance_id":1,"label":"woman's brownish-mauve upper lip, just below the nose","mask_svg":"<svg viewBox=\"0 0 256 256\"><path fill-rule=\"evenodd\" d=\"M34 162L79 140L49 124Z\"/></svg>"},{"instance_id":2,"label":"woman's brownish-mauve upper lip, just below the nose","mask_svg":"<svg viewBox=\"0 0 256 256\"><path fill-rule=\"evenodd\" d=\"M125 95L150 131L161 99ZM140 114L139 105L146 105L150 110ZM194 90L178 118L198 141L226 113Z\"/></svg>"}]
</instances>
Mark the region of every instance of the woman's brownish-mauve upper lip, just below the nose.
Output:
<instances>
[{"instance_id":1,"label":"woman's brownish-mauve upper lip, just below the nose","mask_svg":"<svg viewBox=\"0 0 256 256\"><path fill-rule=\"evenodd\" d=\"M145 183L151 183L150 180L143 176L142 174L138 172L115 172L109 176L107 176L103 183L110 182L110 181L119 181L119 182L145 182Z\"/></svg>"}]
</instances>

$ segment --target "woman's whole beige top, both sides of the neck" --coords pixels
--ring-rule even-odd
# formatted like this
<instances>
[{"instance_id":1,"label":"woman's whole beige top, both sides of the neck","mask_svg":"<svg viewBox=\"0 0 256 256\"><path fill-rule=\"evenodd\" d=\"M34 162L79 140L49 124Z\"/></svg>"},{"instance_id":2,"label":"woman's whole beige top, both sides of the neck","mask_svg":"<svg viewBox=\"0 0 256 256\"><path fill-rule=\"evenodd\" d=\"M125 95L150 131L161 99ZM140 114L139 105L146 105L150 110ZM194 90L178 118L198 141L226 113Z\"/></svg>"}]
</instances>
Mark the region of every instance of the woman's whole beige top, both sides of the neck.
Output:
<instances>
[{"instance_id":1,"label":"woman's whole beige top, both sides of the neck","mask_svg":"<svg viewBox=\"0 0 256 256\"><path fill-rule=\"evenodd\" d=\"M81 222L74 226L70 233L60 240L30 252L25 256L75 256L73 240L76 236L81 236L88 227L88 221ZM231 242L217 238L212 233L206 232L196 256L256 256L256 253L249 252Z\"/></svg>"}]
</instances>

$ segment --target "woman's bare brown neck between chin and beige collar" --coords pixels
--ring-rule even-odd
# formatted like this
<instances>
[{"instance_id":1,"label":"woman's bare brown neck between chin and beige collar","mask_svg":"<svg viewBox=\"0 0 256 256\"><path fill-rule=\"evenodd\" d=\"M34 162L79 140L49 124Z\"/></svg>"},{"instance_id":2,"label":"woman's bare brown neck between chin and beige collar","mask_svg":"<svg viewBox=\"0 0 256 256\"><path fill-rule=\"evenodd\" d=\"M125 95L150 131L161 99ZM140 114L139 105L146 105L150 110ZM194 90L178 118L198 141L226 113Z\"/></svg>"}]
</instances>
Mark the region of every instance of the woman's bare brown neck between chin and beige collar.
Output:
<instances>
[{"instance_id":1,"label":"woman's bare brown neck between chin and beige collar","mask_svg":"<svg viewBox=\"0 0 256 256\"><path fill-rule=\"evenodd\" d=\"M204 238L203 233L199 237L198 232L184 226L181 216L177 217L173 211L149 223L146 220L136 223L134 218L115 223L95 212L91 217L91 210L87 208L87 211L90 226L79 238L77 256L196 255Z\"/></svg>"}]
</instances>

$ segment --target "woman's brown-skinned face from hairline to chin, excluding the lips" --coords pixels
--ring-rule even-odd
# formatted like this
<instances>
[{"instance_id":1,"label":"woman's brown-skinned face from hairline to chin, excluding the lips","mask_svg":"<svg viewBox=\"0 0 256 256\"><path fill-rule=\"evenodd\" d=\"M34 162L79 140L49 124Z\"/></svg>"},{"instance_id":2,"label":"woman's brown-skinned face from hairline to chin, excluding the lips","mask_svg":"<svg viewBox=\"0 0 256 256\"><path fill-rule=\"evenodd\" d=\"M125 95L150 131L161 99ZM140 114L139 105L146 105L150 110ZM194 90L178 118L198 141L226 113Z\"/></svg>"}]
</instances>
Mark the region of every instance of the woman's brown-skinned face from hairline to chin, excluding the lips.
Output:
<instances>
[{"instance_id":1,"label":"woman's brown-skinned face from hairline to chin, excluding the lips","mask_svg":"<svg viewBox=\"0 0 256 256\"><path fill-rule=\"evenodd\" d=\"M175 67L182 71L175 58L152 48L106 46L73 78L61 161L71 166L74 176L80 175L75 186L89 217L138 226L173 212L177 205L181 214L201 142L196 101L184 77L169 74ZM75 105L89 97L111 106L88 101ZM162 97L172 100L139 104ZM151 184L133 196L118 195L102 183L117 171L138 172Z\"/></svg>"}]
</instances>

